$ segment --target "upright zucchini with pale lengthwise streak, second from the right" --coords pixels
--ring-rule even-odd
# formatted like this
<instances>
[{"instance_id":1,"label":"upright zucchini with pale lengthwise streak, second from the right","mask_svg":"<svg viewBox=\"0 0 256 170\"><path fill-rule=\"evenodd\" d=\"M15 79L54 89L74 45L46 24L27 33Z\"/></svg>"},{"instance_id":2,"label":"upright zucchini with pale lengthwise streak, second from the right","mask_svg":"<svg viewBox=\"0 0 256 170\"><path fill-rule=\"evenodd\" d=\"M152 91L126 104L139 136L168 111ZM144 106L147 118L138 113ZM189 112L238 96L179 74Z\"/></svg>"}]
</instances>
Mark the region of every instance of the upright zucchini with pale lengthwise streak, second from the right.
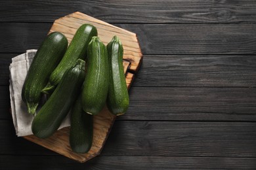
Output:
<instances>
[{"instance_id":1,"label":"upright zucchini with pale lengthwise streak, second from the right","mask_svg":"<svg viewBox=\"0 0 256 170\"><path fill-rule=\"evenodd\" d=\"M83 110L98 114L106 104L109 84L108 52L98 37L93 37L87 49L87 73L83 84Z\"/></svg>"}]
</instances>

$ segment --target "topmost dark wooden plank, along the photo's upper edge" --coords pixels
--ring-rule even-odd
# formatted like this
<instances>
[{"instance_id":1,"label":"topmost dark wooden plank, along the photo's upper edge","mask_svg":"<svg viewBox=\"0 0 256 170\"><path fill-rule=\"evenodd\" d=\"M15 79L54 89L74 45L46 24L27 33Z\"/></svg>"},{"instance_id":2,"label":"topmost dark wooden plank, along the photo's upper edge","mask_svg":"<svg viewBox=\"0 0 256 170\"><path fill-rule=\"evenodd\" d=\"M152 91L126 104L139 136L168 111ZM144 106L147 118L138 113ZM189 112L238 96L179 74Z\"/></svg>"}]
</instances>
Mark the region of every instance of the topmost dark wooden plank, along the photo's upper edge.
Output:
<instances>
[{"instance_id":1,"label":"topmost dark wooden plank, along the photo's upper edge","mask_svg":"<svg viewBox=\"0 0 256 170\"><path fill-rule=\"evenodd\" d=\"M28 10L26 10L28 9ZM110 23L240 23L256 21L253 0L1 1L0 22L53 22L80 11ZM49 11L51 14L49 14Z\"/></svg>"}]
</instances>

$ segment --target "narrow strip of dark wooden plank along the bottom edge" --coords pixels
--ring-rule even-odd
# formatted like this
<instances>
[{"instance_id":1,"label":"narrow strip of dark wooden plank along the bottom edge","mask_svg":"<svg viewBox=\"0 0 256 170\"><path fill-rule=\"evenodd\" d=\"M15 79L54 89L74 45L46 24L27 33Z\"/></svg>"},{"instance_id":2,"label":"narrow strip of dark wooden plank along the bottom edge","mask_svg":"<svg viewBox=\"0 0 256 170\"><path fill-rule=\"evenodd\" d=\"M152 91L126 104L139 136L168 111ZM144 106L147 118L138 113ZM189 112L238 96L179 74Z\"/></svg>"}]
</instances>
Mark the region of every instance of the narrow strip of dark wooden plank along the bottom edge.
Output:
<instances>
[{"instance_id":1,"label":"narrow strip of dark wooden plank along the bottom edge","mask_svg":"<svg viewBox=\"0 0 256 170\"><path fill-rule=\"evenodd\" d=\"M47 162L47 163L46 163ZM61 156L0 156L3 169L255 169L256 158L193 158L169 156L98 156L79 163Z\"/></svg>"}]
</instances>

